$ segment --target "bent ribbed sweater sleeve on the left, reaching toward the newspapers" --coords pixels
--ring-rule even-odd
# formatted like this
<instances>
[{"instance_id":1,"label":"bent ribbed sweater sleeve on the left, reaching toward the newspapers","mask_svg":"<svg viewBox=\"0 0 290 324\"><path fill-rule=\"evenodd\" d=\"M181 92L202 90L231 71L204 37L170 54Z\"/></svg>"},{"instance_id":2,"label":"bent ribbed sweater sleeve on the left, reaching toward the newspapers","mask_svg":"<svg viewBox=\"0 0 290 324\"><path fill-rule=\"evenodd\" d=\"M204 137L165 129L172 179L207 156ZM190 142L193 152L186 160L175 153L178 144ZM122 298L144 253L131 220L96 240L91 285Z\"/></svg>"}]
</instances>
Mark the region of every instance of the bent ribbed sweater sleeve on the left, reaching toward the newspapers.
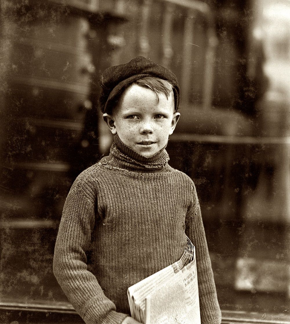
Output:
<instances>
[{"instance_id":1,"label":"bent ribbed sweater sleeve on the left, reaching toward the newspapers","mask_svg":"<svg viewBox=\"0 0 290 324\"><path fill-rule=\"evenodd\" d=\"M65 295L87 324L120 324L127 316L116 312L97 278L87 270L86 250L95 225L94 201L73 184L64 204L56 239L53 272Z\"/></svg>"}]
</instances>

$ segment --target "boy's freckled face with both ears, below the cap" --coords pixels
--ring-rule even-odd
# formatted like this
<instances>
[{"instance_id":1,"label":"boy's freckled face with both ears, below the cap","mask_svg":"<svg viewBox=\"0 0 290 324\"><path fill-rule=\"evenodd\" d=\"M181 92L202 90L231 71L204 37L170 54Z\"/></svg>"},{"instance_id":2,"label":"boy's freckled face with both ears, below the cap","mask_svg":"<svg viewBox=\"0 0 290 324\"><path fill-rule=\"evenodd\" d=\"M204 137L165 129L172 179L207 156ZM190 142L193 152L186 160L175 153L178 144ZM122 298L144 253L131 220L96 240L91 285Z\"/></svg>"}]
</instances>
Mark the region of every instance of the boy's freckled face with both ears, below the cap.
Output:
<instances>
[{"instance_id":1,"label":"boy's freckled face with both ears, below the cap","mask_svg":"<svg viewBox=\"0 0 290 324\"><path fill-rule=\"evenodd\" d=\"M159 100L158 100L159 97ZM111 115L104 114L112 134L135 152L150 157L160 151L173 133L180 113L174 112L174 96L168 99L136 84L122 94Z\"/></svg>"}]
</instances>

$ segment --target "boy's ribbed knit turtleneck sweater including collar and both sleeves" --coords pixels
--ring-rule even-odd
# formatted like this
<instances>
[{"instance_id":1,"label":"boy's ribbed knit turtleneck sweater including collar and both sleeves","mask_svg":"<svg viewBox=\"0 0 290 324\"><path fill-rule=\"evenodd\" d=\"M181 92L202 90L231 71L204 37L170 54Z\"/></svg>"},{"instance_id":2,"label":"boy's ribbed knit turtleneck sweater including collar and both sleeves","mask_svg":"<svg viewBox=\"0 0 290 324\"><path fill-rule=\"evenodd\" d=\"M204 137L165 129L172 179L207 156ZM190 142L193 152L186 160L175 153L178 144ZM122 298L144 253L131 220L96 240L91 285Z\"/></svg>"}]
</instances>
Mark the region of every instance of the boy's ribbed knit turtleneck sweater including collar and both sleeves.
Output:
<instances>
[{"instance_id":1,"label":"boy's ribbed knit turtleneck sweater including collar and both sleeves","mask_svg":"<svg viewBox=\"0 0 290 324\"><path fill-rule=\"evenodd\" d=\"M211 261L192 180L165 149L144 157L118 135L110 155L83 171L64 204L53 271L87 324L120 324L127 288L196 247L202 324L220 323Z\"/></svg>"}]
</instances>

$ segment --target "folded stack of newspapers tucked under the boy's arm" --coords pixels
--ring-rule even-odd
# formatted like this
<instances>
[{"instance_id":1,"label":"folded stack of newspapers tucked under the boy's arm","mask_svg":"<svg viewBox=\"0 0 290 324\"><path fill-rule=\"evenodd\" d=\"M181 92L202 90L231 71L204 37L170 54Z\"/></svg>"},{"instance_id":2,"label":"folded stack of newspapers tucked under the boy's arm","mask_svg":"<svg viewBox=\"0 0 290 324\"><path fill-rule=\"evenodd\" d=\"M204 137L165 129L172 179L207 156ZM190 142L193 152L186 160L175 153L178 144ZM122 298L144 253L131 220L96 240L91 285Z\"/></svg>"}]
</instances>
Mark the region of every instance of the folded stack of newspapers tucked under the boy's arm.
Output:
<instances>
[{"instance_id":1,"label":"folded stack of newspapers tucked under the boy's arm","mask_svg":"<svg viewBox=\"0 0 290 324\"><path fill-rule=\"evenodd\" d=\"M131 316L143 324L201 324L195 247L127 291Z\"/></svg>"}]
</instances>

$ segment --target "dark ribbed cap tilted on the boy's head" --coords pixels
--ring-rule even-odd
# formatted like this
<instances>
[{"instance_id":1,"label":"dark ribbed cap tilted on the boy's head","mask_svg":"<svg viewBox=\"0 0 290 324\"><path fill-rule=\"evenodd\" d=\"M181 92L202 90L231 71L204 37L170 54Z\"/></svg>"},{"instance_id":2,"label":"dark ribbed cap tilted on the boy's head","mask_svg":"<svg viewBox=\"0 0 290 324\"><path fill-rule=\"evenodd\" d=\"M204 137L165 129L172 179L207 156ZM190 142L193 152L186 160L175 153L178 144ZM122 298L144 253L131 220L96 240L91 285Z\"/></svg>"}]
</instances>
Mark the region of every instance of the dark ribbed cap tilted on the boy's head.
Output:
<instances>
[{"instance_id":1,"label":"dark ribbed cap tilted on the boy's head","mask_svg":"<svg viewBox=\"0 0 290 324\"><path fill-rule=\"evenodd\" d=\"M177 110L180 102L180 88L176 75L164 66L138 56L126 64L111 66L102 73L99 78L102 87L99 98L101 111L111 113L115 100L124 89L145 76L155 76L172 84L175 110Z\"/></svg>"}]
</instances>

